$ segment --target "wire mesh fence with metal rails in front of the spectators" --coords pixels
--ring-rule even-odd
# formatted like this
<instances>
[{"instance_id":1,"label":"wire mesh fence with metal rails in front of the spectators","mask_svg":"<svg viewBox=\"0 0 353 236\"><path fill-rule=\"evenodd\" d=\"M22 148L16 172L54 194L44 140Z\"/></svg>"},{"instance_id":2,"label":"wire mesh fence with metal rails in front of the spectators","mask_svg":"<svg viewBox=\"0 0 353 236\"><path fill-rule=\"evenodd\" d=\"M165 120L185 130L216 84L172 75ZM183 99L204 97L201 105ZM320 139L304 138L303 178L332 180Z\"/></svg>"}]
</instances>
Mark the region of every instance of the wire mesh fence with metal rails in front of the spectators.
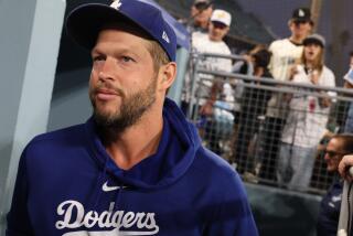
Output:
<instances>
[{"instance_id":1,"label":"wire mesh fence with metal rails in front of the spectators","mask_svg":"<svg viewBox=\"0 0 353 236\"><path fill-rule=\"evenodd\" d=\"M323 159L325 143L342 132L353 92L201 69L204 56L220 55L194 56L188 112L204 144L247 182L325 191L333 178Z\"/></svg>"}]
</instances>

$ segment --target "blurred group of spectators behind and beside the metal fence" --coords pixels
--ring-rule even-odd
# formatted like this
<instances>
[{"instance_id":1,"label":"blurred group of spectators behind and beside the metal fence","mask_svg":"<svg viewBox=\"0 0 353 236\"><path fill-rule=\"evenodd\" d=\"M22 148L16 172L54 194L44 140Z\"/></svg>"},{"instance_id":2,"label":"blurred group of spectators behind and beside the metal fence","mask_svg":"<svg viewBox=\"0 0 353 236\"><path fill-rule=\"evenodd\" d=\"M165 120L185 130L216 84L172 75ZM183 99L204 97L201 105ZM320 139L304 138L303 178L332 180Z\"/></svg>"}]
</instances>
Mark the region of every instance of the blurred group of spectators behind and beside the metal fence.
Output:
<instances>
[{"instance_id":1,"label":"blurred group of spectators behind and beside the metal fence","mask_svg":"<svg viewBox=\"0 0 353 236\"><path fill-rule=\"evenodd\" d=\"M343 155L353 153L353 103L345 101L344 116L334 127L330 124L332 110L341 111L336 81L353 88L353 53L346 75L335 78L325 65L327 42L313 32L309 8L293 9L288 37L255 45L239 60L224 42L234 23L228 11L195 0L184 22L193 55L223 55L191 56L184 79L181 106L188 117L196 117L204 142L247 181L310 193L314 174L330 175L331 186L321 186L325 195L318 234L335 235L342 194L338 167ZM195 63L197 68L239 76L194 76Z\"/></svg>"}]
</instances>

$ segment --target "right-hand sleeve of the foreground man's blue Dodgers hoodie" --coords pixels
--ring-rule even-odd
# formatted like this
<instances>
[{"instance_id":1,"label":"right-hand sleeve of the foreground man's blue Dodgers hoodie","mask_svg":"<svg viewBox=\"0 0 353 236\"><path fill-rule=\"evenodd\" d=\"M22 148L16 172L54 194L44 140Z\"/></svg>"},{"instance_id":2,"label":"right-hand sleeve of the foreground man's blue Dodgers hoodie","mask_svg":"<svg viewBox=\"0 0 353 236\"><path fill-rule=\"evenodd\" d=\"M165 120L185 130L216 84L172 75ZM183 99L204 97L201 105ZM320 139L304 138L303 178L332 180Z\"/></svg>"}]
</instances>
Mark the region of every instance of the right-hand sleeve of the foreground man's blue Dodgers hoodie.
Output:
<instances>
[{"instance_id":1,"label":"right-hand sleeve of the foreground man's blue Dodgers hoodie","mask_svg":"<svg viewBox=\"0 0 353 236\"><path fill-rule=\"evenodd\" d=\"M258 236L245 189L238 175L235 175L231 185L223 189L224 197L214 210L205 235Z\"/></svg>"}]
</instances>

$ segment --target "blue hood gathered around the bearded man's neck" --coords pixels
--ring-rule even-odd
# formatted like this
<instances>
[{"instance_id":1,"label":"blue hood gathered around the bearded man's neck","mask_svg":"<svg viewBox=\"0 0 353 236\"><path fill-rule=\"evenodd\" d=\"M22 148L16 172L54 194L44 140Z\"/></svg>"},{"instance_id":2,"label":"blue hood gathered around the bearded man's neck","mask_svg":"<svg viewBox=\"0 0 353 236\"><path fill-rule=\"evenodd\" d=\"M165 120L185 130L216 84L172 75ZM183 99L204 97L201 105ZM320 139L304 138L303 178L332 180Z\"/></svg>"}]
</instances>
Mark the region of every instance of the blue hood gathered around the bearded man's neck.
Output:
<instances>
[{"instance_id":1,"label":"blue hood gathered around the bearded man's neck","mask_svg":"<svg viewBox=\"0 0 353 236\"><path fill-rule=\"evenodd\" d=\"M163 106L163 131L157 153L129 170L117 167L108 155L93 118L86 122L86 131L101 179L110 175L120 185L146 190L165 187L178 181L194 161L195 152L201 146L195 127L186 121L175 103L169 98L165 98Z\"/></svg>"}]
</instances>

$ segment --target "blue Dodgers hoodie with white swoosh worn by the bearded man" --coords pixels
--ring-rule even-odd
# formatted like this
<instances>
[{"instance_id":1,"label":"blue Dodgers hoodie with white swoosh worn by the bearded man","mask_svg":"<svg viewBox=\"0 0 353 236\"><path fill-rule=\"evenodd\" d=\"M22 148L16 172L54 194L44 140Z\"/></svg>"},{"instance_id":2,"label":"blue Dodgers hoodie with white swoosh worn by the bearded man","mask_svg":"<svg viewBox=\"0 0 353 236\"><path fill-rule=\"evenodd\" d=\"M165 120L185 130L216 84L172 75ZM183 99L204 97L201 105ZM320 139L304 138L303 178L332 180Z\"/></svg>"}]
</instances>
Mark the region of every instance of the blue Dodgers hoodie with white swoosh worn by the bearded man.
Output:
<instances>
[{"instance_id":1,"label":"blue Dodgers hoodie with white swoosh worn by the bearded man","mask_svg":"<svg viewBox=\"0 0 353 236\"><path fill-rule=\"evenodd\" d=\"M20 160L7 235L258 235L238 174L169 99L163 121L157 153L127 171L92 118L35 137Z\"/></svg>"}]
</instances>

